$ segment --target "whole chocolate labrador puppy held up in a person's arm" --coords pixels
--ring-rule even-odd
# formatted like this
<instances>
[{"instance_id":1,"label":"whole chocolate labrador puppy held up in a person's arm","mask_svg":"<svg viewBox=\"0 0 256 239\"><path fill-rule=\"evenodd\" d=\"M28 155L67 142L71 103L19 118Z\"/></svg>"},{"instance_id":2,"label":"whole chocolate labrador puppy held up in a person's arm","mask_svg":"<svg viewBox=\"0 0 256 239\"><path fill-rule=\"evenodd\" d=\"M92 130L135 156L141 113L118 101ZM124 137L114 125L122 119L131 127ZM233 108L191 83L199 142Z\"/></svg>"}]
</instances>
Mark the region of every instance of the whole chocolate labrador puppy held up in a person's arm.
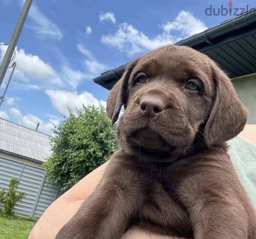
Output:
<instances>
[{"instance_id":1,"label":"whole chocolate labrador puppy held up in a person's arm","mask_svg":"<svg viewBox=\"0 0 256 239\"><path fill-rule=\"evenodd\" d=\"M112 88L121 150L57 239L117 239L137 225L195 239L256 239L256 217L225 141L247 110L206 55L169 45L130 63Z\"/></svg>"}]
</instances>

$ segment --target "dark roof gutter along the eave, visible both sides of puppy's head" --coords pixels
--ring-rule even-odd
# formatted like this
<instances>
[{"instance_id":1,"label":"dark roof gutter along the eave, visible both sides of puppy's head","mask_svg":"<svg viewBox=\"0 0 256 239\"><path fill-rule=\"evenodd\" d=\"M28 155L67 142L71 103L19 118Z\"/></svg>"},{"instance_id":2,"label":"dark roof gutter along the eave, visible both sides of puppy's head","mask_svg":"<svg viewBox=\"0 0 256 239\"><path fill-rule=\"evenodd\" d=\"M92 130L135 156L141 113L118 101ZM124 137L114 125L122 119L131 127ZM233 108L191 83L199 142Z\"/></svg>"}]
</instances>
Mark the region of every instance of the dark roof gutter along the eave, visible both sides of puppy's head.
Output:
<instances>
[{"instance_id":1,"label":"dark roof gutter along the eave, visible both sides of puppy's head","mask_svg":"<svg viewBox=\"0 0 256 239\"><path fill-rule=\"evenodd\" d=\"M253 10L243 13L235 18L226 20L215 27L210 27L201 33L178 41L174 45L186 45L195 49L200 49L202 47L205 48L213 45L216 41L220 41L224 35L231 34L232 32L239 32L255 23L256 9L254 8ZM97 84L104 85L110 90L112 88L113 81L121 78L126 65L122 65L116 69L102 73L100 76L94 78L93 81Z\"/></svg>"}]
</instances>

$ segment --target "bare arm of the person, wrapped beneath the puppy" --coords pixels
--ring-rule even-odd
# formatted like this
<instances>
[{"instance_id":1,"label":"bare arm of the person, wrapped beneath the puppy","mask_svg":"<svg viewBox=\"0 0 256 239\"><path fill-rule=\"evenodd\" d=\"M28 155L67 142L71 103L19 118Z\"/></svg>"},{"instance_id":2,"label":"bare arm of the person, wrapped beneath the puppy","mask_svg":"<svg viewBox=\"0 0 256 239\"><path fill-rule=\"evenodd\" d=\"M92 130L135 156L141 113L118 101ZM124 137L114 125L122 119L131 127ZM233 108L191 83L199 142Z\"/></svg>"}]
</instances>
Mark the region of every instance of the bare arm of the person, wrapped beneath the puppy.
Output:
<instances>
[{"instance_id":1,"label":"bare arm of the person, wrapped beneath the puppy","mask_svg":"<svg viewBox=\"0 0 256 239\"><path fill-rule=\"evenodd\" d=\"M60 198L47 208L40 219L33 227L28 239L53 239L58 231L75 215L81 204L95 190L100 182L107 163L96 168L93 172L85 176L70 190L65 192ZM139 228L128 230L122 239L175 239L174 237L159 236L148 233Z\"/></svg>"}]
</instances>

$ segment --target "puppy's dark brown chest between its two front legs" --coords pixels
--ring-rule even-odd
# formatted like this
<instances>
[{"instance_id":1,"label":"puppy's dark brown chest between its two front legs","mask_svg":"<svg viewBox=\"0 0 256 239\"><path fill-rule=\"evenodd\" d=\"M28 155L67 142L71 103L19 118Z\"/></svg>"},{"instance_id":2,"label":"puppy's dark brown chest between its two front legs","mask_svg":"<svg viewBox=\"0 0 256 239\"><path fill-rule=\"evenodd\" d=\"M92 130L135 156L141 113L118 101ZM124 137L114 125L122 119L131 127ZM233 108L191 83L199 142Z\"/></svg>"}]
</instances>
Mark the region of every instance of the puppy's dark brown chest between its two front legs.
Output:
<instances>
[{"instance_id":1,"label":"puppy's dark brown chest between its two front legs","mask_svg":"<svg viewBox=\"0 0 256 239\"><path fill-rule=\"evenodd\" d=\"M179 235L191 238L192 229L189 217L177 193L179 182L182 178L178 175L170 175L166 168L153 168L148 172L150 190L139 218L146 223L153 223L169 231L169 235Z\"/></svg>"}]
</instances>

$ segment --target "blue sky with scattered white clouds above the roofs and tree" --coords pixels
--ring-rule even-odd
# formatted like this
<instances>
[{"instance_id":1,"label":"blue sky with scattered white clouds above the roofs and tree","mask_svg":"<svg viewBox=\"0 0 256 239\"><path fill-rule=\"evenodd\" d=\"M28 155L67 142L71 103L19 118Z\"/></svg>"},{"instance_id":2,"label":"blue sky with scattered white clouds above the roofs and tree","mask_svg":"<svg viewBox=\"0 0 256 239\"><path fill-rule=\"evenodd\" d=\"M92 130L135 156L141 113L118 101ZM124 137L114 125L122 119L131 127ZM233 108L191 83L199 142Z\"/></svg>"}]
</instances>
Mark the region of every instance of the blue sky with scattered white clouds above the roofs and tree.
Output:
<instances>
[{"instance_id":1,"label":"blue sky with scattered white clouds above the roofs and tree","mask_svg":"<svg viewBox=\"0 0 256 239\"><path fill-rule=\"evenodd\" d=\"M8 43L23 0L0 0L0 43ZM234 7L255 7L252 0ZM141 53L212 27L230 16L205 9L228 1L33 0L16 48L14 77L0 117L51 133L67 108L105 104L108 90L93 82L100 73ZM0 59L6 46L0 46ZM0 94L10 74L7 72Z\"/></svg>"}]
</instances>

